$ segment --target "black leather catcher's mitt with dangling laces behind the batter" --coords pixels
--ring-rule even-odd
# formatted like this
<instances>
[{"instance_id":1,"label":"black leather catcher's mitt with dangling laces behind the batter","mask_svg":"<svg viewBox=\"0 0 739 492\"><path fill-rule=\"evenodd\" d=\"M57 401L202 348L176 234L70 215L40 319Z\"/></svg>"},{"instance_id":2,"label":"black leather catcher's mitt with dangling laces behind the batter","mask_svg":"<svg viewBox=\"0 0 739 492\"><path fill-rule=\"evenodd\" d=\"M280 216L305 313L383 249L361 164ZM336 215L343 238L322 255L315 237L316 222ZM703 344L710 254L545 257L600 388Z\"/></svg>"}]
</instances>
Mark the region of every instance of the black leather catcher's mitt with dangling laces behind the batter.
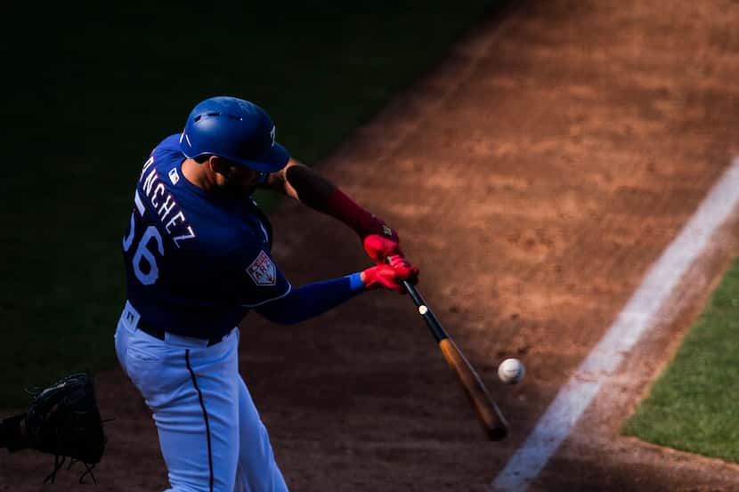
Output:
<instances>
[{"instance_id":1,"label":"black leather catcher's mitt with dangling laces behind the batter","mask_svg":"<svg viewBox=\"0 0 739 492\"><path fill-rule=\"evenodd\" d=\"M54 470L46 477L52 483L69 456L74 464L85 464L80 477L92 474L105 448L100 409L93 379L87 374L69 375L46 388L28 391L33 397L25 419L28 448L54 455Z\"/></svg>"}]
</instances>

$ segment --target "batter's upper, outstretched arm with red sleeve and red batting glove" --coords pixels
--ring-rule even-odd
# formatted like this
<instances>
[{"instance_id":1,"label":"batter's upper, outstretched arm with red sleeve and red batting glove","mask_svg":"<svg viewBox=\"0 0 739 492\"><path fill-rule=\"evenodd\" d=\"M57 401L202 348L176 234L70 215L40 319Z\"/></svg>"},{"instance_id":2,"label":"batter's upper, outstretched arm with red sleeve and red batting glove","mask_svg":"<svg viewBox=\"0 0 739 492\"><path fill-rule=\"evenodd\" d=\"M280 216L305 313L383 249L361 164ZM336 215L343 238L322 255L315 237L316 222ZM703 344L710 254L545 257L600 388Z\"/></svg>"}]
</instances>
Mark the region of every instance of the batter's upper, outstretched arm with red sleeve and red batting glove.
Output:
<instances>
[{"instance_id":1,"label":"batter's upper, outstretched arm with red sleeve and red batting glove","mask_svg":"<svg viewBox=\"0 0 739 492\"><path fill-rule=\"evenodd\" d=\"M295 198L313 210L344 222L356 231L365 251L378 265L385 262L386 257L402 258L400 238L395 230L307 165L290 159L288 165L267 177L265 185L269 190Z\"/></svg>"}]
</instances>

